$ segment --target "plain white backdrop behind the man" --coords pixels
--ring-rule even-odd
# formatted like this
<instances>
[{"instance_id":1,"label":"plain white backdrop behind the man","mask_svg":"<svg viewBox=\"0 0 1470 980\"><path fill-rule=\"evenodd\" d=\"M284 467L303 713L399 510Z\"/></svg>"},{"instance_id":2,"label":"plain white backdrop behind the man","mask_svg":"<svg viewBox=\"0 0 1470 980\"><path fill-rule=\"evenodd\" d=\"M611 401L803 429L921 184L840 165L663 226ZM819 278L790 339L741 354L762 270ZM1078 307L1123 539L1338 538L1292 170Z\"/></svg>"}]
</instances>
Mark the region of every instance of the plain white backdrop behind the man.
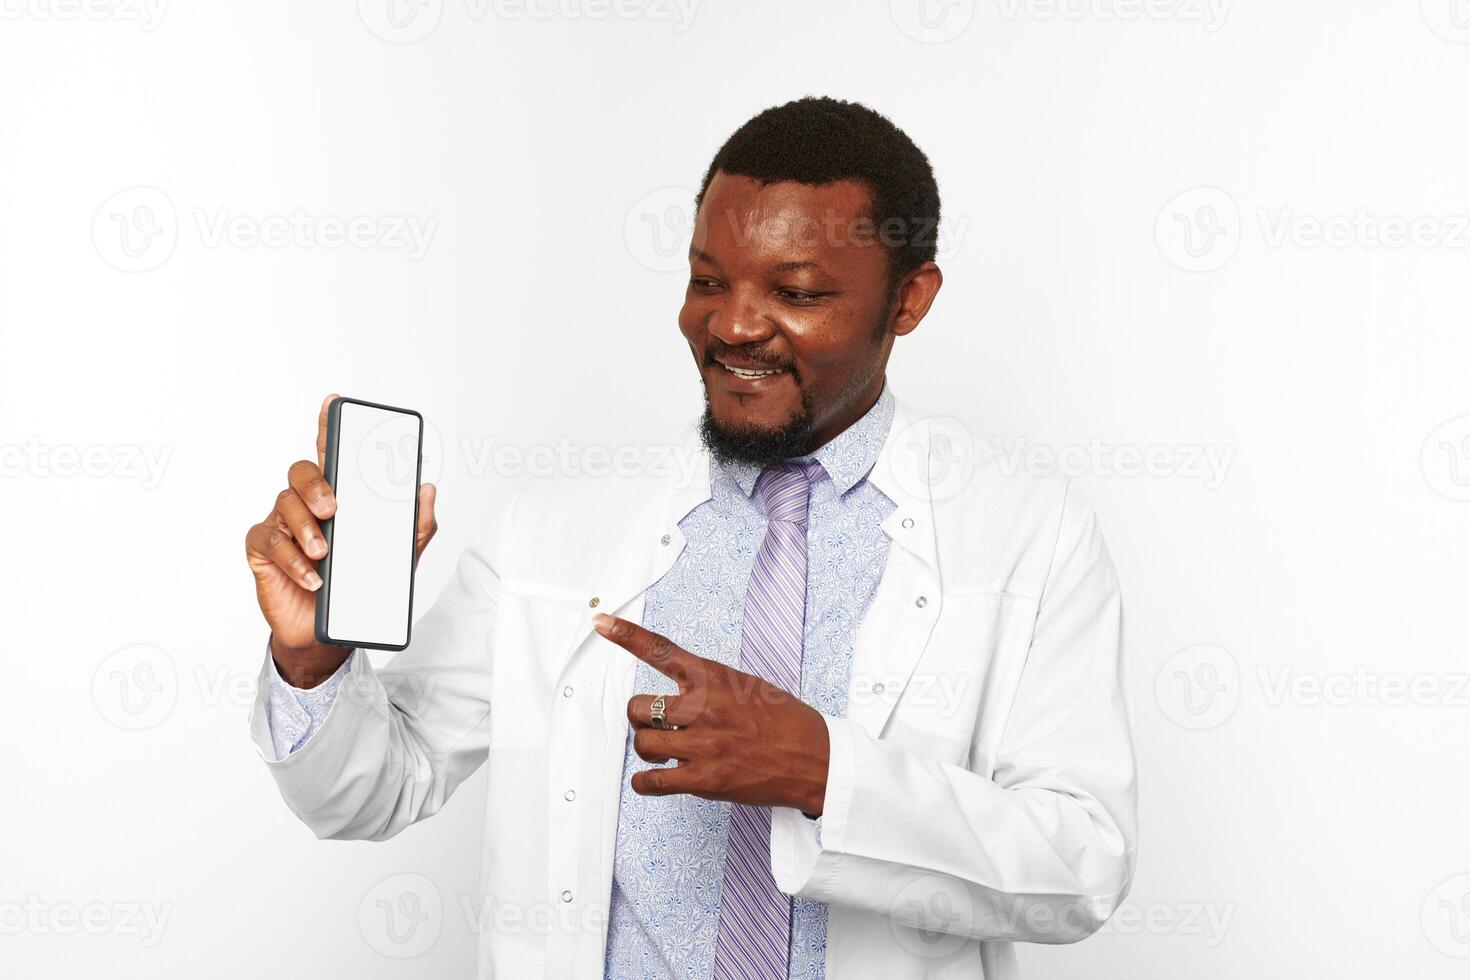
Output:
<instances>
[{"instance_id":1,"label":"plain white backdrop behind the man","mask_svg":"<svg viewBox=\"0 0 1470 980\"><path fill-rule=\"evenodd\" d=\"M482 776L294 820L245 529L326 392L419 408L422 613L695 413L692 190L831 94L939 179L897 394L1075 472L1123 582L1133 893L1028 976L1464 976L1463 0L0 0L0 974L472 973Z\"/></svg>"}]
</instances>

